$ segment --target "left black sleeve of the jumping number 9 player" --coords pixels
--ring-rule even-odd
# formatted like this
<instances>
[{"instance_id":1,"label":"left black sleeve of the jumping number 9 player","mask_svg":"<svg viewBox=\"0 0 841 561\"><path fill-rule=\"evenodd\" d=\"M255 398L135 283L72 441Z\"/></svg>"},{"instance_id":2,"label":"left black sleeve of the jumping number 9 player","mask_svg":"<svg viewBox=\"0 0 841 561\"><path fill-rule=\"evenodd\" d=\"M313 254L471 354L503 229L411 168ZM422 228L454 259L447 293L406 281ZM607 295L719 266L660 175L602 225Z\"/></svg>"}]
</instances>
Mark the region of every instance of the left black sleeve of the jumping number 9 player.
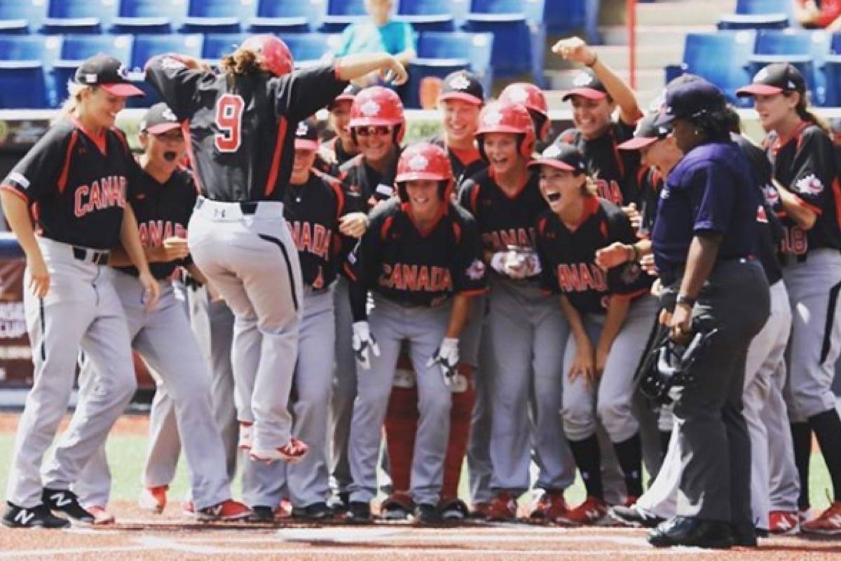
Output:
<instances>
[{"instance_id":1,"label":"left black sleeve of the jumping number 9 player","mask_svg":"<svg viewBox=\"0 0 841 561\"><path fill-rule=\"evenodd\" d=\"M199 84L215 79L210 72L190 70L173 53L153 56L146 62L145 72L146 82L155 87L172 113L181 120L193 116Z\"/></svg>"}]
</instances>

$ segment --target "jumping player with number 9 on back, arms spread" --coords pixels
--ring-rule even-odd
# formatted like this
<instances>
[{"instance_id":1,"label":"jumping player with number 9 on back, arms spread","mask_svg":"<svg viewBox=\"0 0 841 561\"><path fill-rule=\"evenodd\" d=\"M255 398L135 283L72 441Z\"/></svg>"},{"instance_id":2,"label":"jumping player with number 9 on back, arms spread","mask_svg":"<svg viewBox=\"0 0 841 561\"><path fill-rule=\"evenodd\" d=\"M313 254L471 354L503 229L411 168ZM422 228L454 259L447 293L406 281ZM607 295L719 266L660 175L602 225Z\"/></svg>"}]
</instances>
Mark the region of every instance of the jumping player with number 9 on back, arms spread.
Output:
<instances>
[{"instance_id":1,"label":"jumping player with number 9 on back, arms spread","mask_svg":"<svg viewBox=\"0 0 841 561\"><path fill-rule=\"evenodd\" d=\"M162 55L146 79L181 120L201 196L189 248L236 316L232 351L241 446L252 459L297 462L309 448L291 436L288 410L303 285L283 199L298 122L330 103L347 80L405 69L388 55L359 55L292 72L283 41L249 38L221 62Z\"/></svg>"}]
</instances>

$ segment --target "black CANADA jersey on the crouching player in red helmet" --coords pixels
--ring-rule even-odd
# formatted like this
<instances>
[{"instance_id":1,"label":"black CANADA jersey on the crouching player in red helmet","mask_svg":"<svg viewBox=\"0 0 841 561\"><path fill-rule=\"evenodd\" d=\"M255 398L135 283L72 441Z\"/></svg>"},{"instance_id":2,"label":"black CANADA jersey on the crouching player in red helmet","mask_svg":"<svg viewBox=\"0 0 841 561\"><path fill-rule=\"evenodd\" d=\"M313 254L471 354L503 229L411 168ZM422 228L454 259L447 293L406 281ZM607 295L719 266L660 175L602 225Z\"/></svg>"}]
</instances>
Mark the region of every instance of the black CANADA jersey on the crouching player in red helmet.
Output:
<instances>
[{"instance_id":1,"label":"black CANADA jersey on the crouching player in red helmet","mask_svg":"<svg viewBox=\"0 0 841 561\"><path fill-rule=\"evenodd\" d=\"M476 223L455 204L426 231L415 225L409 204L393 198L378 206L345 269L357 288L407 306L442 304L487 285Z\"/></svg>"}]
</instances>

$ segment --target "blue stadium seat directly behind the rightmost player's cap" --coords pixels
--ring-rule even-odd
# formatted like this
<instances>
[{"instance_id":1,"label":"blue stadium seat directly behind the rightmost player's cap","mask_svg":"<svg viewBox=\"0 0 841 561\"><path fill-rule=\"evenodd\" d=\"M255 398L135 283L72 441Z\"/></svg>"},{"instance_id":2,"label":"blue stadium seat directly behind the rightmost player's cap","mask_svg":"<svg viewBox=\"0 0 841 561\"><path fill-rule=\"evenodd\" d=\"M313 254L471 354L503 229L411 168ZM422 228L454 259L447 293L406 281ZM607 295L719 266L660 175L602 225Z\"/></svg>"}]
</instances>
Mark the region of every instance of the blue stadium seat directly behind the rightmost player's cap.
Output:
<instances>
[{"instance_id":1,"label":"blue stadium seat directly behind the rightmost player's cap","mask_svg":"<svg viewBox=\"0 0 841 561\"><path fill-rule=\"evenodd\" d=\"M808 71L804 75L808 88L812 91L812 103L827 104L827 83L822 72L823 61L829 55L832 37L822 29L763 29L756 39L752 59L752 69L759 70L761 56L807 56L809 64L801 63L800 70Z\"/></svg>"}]
</instances>

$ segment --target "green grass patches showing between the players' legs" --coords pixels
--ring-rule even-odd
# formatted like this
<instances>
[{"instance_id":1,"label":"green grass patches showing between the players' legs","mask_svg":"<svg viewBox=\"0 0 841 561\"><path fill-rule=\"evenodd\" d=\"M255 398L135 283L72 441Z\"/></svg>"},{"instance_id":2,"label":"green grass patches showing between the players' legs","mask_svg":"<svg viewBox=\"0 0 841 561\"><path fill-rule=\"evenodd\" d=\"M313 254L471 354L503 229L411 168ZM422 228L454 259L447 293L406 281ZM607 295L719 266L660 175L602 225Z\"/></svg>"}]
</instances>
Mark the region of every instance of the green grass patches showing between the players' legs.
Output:
<instances>
[{"instance_id":1,"label":"green grass patches showing between the players' legs","mask_svg":"<svg viewBox=\"0 0 841 561\"><path fill-rule=\"evenodd\" d=\"M8 468L12 458L12 445L14 435L0 434L0 458L6 458L0 463L0 490L6 489L8 479ZM111 492L112 500L136 500L141 485L141 474L146 453L146 438L135 436L114 435L108 439L108 458L111 464L111 474L114 479ZM829 480L826 465L820 453L812 454L812 465L809 476L810 494L812 506L824 508L829 504L828 493L831 493L832 484ZM236 490L239 485L236 485ZM184 462L178 465L175 481L170 486L169 495L178 500L188 491L187 470ZM460 495L467 497L467 474L463 472ZM567 500L575 505L584 500L584 484L580 477L576 477L575 483L567 491ZM521 500L528 500L529 495L523 495Z\"/></svg>"}]
</instances>

